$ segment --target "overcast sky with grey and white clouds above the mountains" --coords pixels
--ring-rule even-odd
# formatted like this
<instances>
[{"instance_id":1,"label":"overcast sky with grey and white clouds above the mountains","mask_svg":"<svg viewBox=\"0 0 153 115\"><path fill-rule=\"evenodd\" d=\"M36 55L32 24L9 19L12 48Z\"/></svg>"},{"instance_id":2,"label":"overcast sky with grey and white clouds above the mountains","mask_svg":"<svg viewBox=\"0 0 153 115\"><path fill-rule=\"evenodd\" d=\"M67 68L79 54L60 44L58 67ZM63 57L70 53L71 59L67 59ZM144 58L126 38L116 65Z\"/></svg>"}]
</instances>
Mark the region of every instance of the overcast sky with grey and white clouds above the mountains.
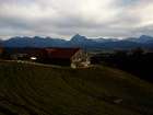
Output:
<instances>
[{"instance_id":1,"label":"overcast sky with grey and white clouds above the mountains","mask_svg":"<svg viewBox=\"0 0 153 115\"><path fill-rule=\"evenodd\" d=\"M0 38L153 35L153 0L0 0Z\"/></svg>"}]
</instances>

